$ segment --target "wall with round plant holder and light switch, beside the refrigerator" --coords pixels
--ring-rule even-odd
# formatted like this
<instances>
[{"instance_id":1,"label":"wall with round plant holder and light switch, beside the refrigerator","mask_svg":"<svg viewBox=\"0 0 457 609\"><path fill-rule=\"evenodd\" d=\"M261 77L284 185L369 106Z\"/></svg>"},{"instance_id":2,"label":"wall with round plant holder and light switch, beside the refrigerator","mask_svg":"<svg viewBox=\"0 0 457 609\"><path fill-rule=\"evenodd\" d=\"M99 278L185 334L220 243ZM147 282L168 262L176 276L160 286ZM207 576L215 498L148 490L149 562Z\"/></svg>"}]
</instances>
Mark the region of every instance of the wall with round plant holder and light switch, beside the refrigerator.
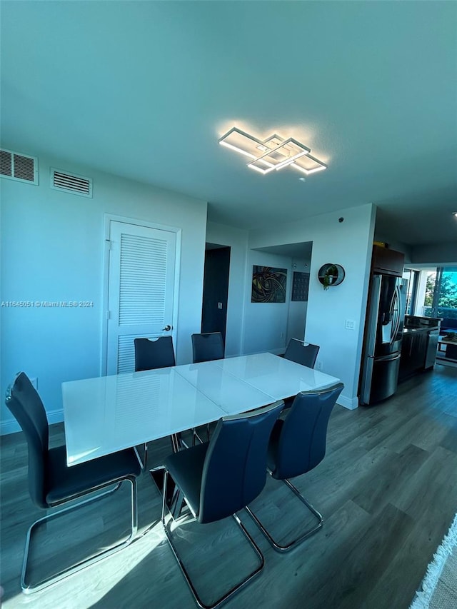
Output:
<instances>
[{"instance_id":1,"label":"wall with round plant holder and light switch, beside the refrigerator","mask_svg":"<svg viewBox=\"0 0 457 609\"><path fill-rule=\"evenodd\" d=\"M343 217L343 222L338 218ZM251 231L251 248L313 241L305 340L321 346L318 359L323 372L341 378L344 390L338 403L358 406L358 375L366 313L368 276L375 223L375 208L368 204L326 213L306 221ZM324 263L338 263L346 270L340 286L327 291L318 282ZM346 320L355 322L345 329Z\"/></svg>"}]
</instances>

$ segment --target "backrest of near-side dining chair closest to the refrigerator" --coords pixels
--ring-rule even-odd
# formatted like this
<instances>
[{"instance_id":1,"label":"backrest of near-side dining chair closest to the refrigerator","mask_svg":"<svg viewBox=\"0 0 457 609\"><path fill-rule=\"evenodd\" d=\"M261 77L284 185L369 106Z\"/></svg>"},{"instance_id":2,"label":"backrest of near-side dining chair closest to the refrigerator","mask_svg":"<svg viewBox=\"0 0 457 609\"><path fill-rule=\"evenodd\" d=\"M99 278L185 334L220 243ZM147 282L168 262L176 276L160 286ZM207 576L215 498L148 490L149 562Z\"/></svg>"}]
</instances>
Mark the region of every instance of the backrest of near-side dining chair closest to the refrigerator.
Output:
<instances>
[{"instance_id":1,"label":"backrest of near-side dining chair closest to the refrigerator","mask_svg":"<svg viewBox=\"0 0 457 609\"><path fill-rule=\"evenodd\" d=\"M343 383L312 393L298 393L287 416L276 423L268 447L273 478L301 475L321 463L326 453L328 419Z\"/></svg>"}]
</instances>

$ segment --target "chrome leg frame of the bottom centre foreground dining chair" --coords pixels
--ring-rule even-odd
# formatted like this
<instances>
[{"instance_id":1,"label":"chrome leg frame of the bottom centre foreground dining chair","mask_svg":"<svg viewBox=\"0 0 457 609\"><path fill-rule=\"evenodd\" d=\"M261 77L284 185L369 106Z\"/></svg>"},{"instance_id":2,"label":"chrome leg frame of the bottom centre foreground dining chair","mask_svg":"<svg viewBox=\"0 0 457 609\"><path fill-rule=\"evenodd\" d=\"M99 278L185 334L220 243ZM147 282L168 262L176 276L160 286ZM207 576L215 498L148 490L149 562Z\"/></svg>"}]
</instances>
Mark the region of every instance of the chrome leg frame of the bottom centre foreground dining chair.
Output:
<instances>
[{"instance_id":1,"label":"chrome leg frame of the bottom centre foreground dining chair","mask_svg":"<svg viewBox=\"0 0 457 609\"><path fill-rule=\"evenodd\" d=\"M169 472L168 472L168 470L165 470L165 475L164 475L164 495L163 495L163 498L162 498L162 518L161 519L162 519L162 526L164 527L166 538L167 538L167 540L169 542L171 550L174 553L174 557L176 558L176 562L178 563L179 568L181 569L181 573L184 575L184 578L185 578L185 580L187 582L187 585L189 585L189 588L191 590L192 595L194 596L194 600L197 603L197 605L199 605L199 607L201 609L215 609L216 607L219 607L219 605L224 603L228 598L231 598L231 596L234 595L235 593L237 593L238 590L241 590L241 588L243 588L253 578L255 578L256 575L258 575L258 573L260 573L261 570L263 569L263 565L265 564L265 559L263 558L263 554L261 553L260 548L258 548L258 545L256 544L256 542L253 540L251 535L249 535L249 533L246 530L246 528L244 527L243 523L238 518L238 515L232 514L233 519L238 524L239 528L241 528L241 531L242 531L243 535L246 537L248 542L251 544L251 548L253 548L254 552L256 553L257 558L258 558L260 564L258 565L258 567L256 569L251 571L251 573L249 573L249 575L247 575L245 578L243 578L243 580L241 580L240 583L238 583L237 585L233 586L228 592L226 592L223 596L221 596L221 598L216 600L215 603L212 603L211 605L206 605L201 600L201 598L199 596L199 593L197 592L197 590L196 590L196 588L194 586L194 583L192 582L192 580L191 580L191 578L189 576L189 573L187 572L186 567L184 566L184 563L183 563L183 561L181 560L181 558L179 556L178 550L176 550L176 546L173 543L171 532L169 531L169 529L167 528L166 523L165 523L166 485L168 483L168 478L169 478Z\"/></svg>"}]
</instances>

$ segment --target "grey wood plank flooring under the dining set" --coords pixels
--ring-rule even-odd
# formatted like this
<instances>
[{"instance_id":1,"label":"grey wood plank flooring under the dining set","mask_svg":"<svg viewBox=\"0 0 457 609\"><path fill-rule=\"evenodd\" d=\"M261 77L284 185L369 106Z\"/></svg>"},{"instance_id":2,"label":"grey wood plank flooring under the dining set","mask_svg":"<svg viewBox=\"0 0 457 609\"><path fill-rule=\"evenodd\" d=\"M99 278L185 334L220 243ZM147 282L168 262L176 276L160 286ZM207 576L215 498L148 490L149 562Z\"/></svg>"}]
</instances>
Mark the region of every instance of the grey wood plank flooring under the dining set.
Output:
<instances>
[{"instance_id":1,"label":"grey wood plank flooring under the dining set","mask_svg":"<svg viewBox=\"0 0 457 609\"><path fill-rule=\"evenodd\" d=\"M51 426L51 443L64 440ZM149 467L170 451L168 441L149 445ZM408 609L416 588L457 511L457 368L402 383L396 396L371 408L336 406L323 462L294 483L324 515L323 528L291 553L272 550L248 517L246 527L266 559L263 573L228 609ZM1 578L3 608L193 608L194 600L159 523L160 497L148 473L139 478L139 527L151 532L129 548L40 593L21 593L19 575L26 530L43 513L34 508L27 483L22 433L1 438ZM36 568L60 563L61 547L81 548L102 533L125 533L128 493L72 515L59 530L46 530ZM102 503L104 505L102 505ZM256 513L277 535L306 525L301 504L268 480ZM256 561L231 519L215 525L187 523L176 530L184 559L204 600ZM209 539L209 535L212 538ZM98 542L105 543L104 538ZM199 545L198 545L199 544ZM181 548L180 545L180 548ZM201 548L197 550L197 548ZM66 553L66 551L64 551ZM236 571L238 570L239 573Z\"/></svg>"}]
</instances>

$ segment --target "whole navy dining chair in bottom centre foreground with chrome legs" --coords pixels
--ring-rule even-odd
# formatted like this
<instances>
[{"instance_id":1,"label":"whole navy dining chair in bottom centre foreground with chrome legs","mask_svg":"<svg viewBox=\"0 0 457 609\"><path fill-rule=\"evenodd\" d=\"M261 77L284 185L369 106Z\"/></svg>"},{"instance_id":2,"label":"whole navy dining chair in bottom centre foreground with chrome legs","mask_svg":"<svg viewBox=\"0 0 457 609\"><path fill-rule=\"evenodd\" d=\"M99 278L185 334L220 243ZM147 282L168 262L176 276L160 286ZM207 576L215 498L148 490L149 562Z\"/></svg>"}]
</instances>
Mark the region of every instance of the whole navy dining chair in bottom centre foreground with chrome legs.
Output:
<instances>
[{"instance_id":1,"label":"whole navy dining chair in bottom centre foreground with chrome legs","mask_svg":"<svg viewBox=\"0 0 457 609\"><path fill-rule=\"evenodd\" d=\"M256 498L266 483L268 440L282 408L283 402L279 401L248 413L221 418L211 441L174 453L164 462L162 524L199 607L214 609L238 592L263 568L263 555L236 512ZM169 476L184 495L186 505L198 523L212 523L232 516L258 558L256 569L209 605L201 600L165 522ZM236 560L236 557L232 560Z\"/></svg>"}]
</instances>

